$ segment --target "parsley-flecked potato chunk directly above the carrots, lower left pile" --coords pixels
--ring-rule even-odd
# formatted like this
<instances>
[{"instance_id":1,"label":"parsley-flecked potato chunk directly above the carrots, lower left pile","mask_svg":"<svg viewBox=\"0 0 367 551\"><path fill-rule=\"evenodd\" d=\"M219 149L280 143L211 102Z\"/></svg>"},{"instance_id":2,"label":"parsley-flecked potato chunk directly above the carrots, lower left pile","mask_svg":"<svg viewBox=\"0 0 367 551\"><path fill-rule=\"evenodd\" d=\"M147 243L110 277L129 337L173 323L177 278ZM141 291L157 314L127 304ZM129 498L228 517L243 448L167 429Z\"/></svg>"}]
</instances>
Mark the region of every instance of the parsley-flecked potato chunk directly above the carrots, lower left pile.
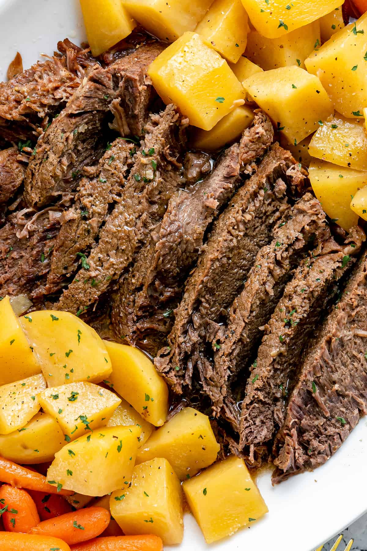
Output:
<instances>
[{"instance_id":1,"label":"parsley-flecked potato chunk directly above the carrots, lower left pile","mask_svg":"<svg viewBox=\"0 0 367 551\"><path fill-rule=\"evenodd\" d=\"M47 480L83 495L103 496L132 479L140 429L112 426L85 434L55 454Z\"/></svg>"}]
</instances>

